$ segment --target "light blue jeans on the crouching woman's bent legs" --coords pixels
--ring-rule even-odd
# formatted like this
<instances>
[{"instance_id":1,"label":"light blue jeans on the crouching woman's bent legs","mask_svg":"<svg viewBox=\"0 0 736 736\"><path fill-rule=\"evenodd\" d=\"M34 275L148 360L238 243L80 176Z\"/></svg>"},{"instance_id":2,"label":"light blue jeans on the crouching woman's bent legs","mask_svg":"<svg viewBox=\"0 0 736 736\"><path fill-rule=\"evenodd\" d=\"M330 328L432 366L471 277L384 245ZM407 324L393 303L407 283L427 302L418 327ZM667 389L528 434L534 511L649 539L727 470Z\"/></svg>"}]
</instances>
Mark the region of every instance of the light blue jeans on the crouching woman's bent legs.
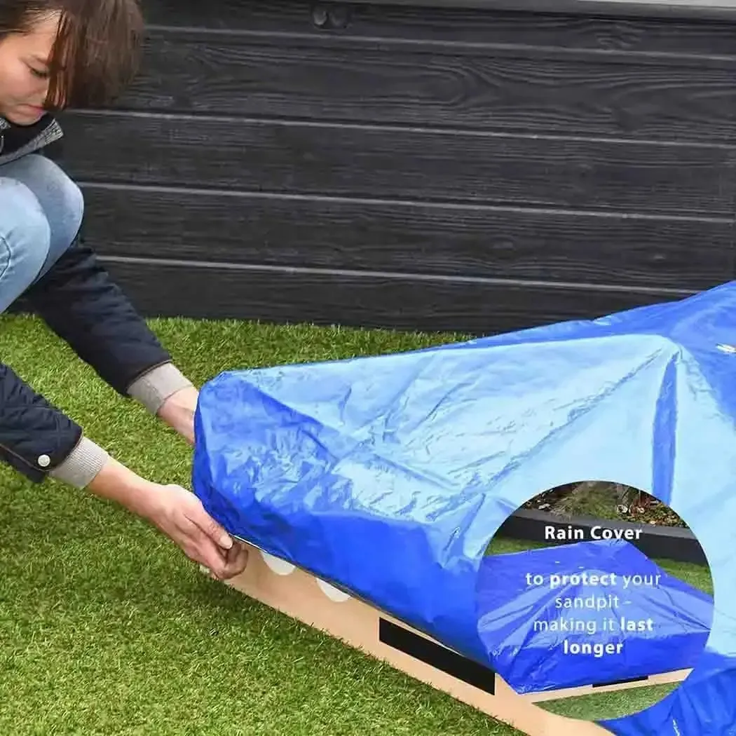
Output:
<instances>
[{"instance_id":1,"label":"light blue jeans on the crouching woman's bent legs","mask_svg":"<svg viewBox=\"0 0 736 736\"><path fill-rule=\"evenodd\" d=\"M83 214L82 192L52 160L0 166L0 314L68 249Z\"/></svg>"}]
</instances>

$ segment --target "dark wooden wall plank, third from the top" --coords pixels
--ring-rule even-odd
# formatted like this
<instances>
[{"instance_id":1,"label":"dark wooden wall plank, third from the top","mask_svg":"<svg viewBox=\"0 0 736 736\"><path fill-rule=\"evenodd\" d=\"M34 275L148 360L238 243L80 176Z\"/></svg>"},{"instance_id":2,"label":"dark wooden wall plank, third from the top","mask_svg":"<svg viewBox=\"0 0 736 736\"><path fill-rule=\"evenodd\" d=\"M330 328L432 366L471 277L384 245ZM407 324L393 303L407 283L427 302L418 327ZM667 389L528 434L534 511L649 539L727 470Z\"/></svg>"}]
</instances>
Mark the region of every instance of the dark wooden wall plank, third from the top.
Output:
<instances>
[{"instance_id":1,"label":"dark wooden wall plank, third from the top","mask_svg":"<svg viewBox=\"0 0 736 736\"><path fill-rule=\"evenodd\" d=\"M69 113L79 181L732 216L728 146Z\"/></svg>"}]
</instances>

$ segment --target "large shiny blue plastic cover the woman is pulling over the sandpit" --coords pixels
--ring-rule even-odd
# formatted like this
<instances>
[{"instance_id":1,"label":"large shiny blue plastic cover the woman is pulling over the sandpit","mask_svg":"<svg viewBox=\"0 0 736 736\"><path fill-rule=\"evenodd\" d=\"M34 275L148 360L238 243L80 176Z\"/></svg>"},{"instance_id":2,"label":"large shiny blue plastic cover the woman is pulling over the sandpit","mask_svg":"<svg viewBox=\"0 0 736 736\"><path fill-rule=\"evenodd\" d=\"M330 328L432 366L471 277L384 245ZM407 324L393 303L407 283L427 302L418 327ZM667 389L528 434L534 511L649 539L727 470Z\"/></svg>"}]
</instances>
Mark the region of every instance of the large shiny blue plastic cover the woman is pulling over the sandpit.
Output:
<instances>
[{"instance_id":1,"label":"large shiny blue plastic cover the woman is pulling over the sandpit","mask_svg":"<svg viewBox=\"0 0 736 736\"><path fill-rule=\"evenodd\" d=\"M698 537L712 629L621 736L736 723L736 284L680 302L414 353L224 372L202 388L192 481L231 533L479 662L489 540L537 493L651 492ZM725 696L728 697L725 697Z\"/></svg>"}]
</instances>

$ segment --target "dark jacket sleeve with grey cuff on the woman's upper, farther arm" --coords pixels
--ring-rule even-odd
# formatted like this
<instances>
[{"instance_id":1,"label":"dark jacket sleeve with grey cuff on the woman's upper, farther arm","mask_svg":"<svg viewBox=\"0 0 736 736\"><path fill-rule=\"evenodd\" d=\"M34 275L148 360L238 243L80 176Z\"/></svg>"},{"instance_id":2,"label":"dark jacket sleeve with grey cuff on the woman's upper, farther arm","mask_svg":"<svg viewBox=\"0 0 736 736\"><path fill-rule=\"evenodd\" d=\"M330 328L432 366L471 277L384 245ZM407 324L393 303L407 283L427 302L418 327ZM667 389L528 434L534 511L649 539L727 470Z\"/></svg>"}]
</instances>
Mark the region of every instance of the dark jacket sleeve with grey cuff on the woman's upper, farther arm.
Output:
<instances>
[{"instance_id":1,"label":"dark jacket sleeve with grey cuff on the woman's upper, farther arm","mask_svg":"<svg viewBox=\"0 0 736 736\"><path fill-rule=\"evenodd\" d=\"M152 413L191 386L80 236L24 300L118 394Z\"/></svg>"}]
</instances>

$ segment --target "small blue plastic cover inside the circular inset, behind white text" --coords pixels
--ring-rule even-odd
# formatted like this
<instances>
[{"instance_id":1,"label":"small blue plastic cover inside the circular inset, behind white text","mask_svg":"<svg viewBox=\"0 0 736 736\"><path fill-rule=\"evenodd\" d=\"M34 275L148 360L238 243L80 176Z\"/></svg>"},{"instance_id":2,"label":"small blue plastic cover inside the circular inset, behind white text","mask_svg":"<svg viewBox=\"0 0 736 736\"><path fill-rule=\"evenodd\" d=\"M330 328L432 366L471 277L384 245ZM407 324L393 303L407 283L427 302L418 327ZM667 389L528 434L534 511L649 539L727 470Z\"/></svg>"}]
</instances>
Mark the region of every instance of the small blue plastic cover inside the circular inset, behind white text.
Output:
<instances>
[{"instance_id":1,"label":"small blue plastic cover inside the circular inset, behind white text","mask_svg":"<svg viewBox=\"0 0 736 736\"><path fill-rule=\"evenodd\" d=\"M487 556L478 602L487 661L517 693L692 668L713 606L622 539Z\"/></svg>"}]
</instances>

